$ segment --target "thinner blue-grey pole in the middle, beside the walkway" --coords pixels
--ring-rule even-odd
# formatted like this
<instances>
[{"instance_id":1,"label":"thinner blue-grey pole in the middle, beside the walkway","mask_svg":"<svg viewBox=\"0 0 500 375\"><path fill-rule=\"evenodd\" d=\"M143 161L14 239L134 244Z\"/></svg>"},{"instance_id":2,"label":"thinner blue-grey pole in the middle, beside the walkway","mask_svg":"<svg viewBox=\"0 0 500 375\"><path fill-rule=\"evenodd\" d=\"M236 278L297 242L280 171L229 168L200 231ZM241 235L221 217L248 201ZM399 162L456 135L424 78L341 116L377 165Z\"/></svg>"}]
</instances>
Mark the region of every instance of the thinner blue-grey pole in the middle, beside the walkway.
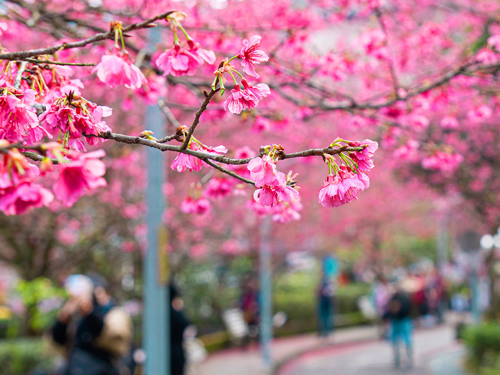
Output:
<instances>
[{"instance_id":1,"label":"thinner blue-grey pole in the middle, beside the walkway","mask_svg":"<svg viewBox=\"0 0 500 375\"><path fill-rule=\"evenodd\" d=\"M272 281L271 281L271 249L269 235L271 231L271 217L267 216L260 221L260 345L264 365L272 366L271 338L272 338Z\"/></svg>"}]
</instances>

